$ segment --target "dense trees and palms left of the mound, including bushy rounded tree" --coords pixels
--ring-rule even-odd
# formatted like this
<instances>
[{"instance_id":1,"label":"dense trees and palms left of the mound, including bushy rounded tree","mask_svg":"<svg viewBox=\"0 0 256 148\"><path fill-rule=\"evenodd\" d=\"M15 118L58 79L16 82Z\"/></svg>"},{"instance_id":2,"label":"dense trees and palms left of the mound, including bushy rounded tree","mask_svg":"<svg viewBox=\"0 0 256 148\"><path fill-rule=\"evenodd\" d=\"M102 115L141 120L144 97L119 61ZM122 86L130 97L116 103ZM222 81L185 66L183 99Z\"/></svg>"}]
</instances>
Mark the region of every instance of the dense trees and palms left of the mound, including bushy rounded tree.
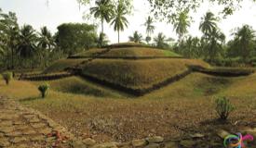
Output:
<instances>
[{"instance_id":1,"label":"dense trees and palms left of the mound, including bushy rounded tree","mask_svg":"<svg viewBox=\"0 0 256 148\"><path fill-rule=\"evenodd\" d=\"M52 34L46 26L35 31L17 20L15 13L0 9L0 69L46 68L54 60L100 46L95 25L64 23Z\"/></svg>"}]
</instances>

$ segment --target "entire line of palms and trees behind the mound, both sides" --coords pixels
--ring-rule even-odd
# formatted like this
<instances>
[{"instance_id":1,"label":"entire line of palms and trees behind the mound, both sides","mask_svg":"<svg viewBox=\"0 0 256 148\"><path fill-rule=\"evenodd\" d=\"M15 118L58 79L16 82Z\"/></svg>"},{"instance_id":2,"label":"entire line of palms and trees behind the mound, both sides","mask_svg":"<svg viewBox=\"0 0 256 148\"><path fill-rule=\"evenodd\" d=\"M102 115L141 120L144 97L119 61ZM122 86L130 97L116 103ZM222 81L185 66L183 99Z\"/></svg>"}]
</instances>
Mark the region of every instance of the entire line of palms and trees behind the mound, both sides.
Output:
<instances>
[{"instance_id":1,"label":"entire line of palms and trees behind the mound, both sides","mask_svg":"<svg viewBox=\"0 0 256 148\"><path fill-rule=\"evenodd\" d=\"M83 2L83 1L81 1ZM19 26L15 13L4 13L0 9L0 66L1 68L45 68L52 61L83 52L92 47L102 47L109 43L104 33L104 23L110 23L117 31L128 27L131 4L128 0L96 0L89 14L101 20L101 32L97 34L96 25L86 23L64 23L52 34L47 27L35 31L31 25ZM86 3L86 2L85 2ZM188 58L201 58L216 65L254 64L255 31L249 25L237 28L234 39L226 42L225 35L218 27L219 18L207 12L201 19L198 29L202 37L188 34L191 26L189 10L177 11L171 19L179 40L175 42L159 32L155 37L155 22L148 16L144 23L145 37L135 31L128 37L135 43L146 43L161 49L174 50Z\"/></svg>"}]
</instances>

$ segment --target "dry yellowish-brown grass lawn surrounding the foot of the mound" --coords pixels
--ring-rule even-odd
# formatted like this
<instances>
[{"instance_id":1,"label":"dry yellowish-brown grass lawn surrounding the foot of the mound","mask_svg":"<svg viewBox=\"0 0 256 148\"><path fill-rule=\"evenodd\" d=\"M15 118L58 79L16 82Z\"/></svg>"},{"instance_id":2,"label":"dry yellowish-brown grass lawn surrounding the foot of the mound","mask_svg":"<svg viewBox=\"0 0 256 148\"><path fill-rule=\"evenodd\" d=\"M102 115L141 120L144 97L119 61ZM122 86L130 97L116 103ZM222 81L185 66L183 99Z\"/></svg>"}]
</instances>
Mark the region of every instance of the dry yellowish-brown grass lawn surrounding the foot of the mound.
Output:
<instances>
[{"instance_id":1,"label":"dry yellowish-brown grass lawn surrounding the foot of the mound","mask_svg":"<svg viewBox=\"0 0 256 148\"><path fill-rule=\"evenodd\" d=\"M217 117L215 97L222 94L236 105L231 123L237 122L237 126L255 123L255 80L255 74L227 79L194 73L153 93L129 98L117 92L104 93L107 89L72 77L49 81L51 89L46 99L41 99L37 91L41 82L13 80L6 86L0 80L0 94L40 110L77 136L93 137L99 142L124 142L149 135L175 138L187 132L209 133L209 129L220 126L211 121ZM78 94L69 88L74 83L85 90L100 90L99 94L105 96L89 91Z\"/></svg>"}]
</instances>

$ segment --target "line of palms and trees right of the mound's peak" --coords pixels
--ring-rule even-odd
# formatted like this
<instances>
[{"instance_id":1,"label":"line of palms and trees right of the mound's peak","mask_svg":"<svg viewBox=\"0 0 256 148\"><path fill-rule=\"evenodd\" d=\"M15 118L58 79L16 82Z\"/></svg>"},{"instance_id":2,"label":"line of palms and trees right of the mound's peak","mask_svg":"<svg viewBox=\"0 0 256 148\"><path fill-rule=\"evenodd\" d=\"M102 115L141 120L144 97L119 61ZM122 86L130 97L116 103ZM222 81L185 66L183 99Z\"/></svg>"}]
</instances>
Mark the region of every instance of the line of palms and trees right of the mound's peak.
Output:
<instances>
[{"instance_id":1,"label":"line of palms and trees right of the mound's peak","mask_svg":"<svg viewBox=\"0 0 256 148\"><path fill-rule=\"evenodd\" d=\"M243 25L232 32L233 39L226 42L225 34L218 27L219 18L212 12L207 12L202 18L198 29L202 32L202 37L193 37L188 34L190 20L187 12L179 14L174 22L174 31L179 39L175 42L172 38L167 38L162 32L151 42L151 34L155 31L154 20L148 17L144 26L146 37L135 31L129 36L129 41L146 43L157 48L174 50L187 58L201 58L211 64L218 66L243 66L256 65L256 34L249 25Z\"/></svg>"}]
</instances>

